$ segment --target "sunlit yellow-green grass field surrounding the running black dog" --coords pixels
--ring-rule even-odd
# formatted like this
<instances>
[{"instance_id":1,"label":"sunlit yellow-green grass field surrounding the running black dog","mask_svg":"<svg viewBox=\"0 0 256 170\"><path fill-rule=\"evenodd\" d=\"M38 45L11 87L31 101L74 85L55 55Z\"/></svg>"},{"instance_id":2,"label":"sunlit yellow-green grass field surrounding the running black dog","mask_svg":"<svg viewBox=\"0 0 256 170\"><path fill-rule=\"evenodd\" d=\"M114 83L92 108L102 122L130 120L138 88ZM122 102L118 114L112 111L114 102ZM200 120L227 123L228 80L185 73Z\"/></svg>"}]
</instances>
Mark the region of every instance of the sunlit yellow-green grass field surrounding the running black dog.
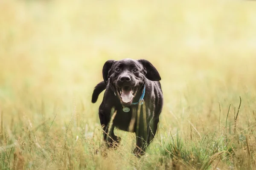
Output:
<instances>
[{"instance_id":1,"label":"sunlit yellow-green grass field surrounding the running black dog","mask_svg":"<svg viewBox=\"0 0 256 170\"><path fill-rule=\"evenodd\" d=\"M0 0L0 169L256 169L255 15L245 0ZM91 94L104 62L122 58L162 77L140 159L118 129L120 146L94 154Z\"/></svg>"}]
</instances>

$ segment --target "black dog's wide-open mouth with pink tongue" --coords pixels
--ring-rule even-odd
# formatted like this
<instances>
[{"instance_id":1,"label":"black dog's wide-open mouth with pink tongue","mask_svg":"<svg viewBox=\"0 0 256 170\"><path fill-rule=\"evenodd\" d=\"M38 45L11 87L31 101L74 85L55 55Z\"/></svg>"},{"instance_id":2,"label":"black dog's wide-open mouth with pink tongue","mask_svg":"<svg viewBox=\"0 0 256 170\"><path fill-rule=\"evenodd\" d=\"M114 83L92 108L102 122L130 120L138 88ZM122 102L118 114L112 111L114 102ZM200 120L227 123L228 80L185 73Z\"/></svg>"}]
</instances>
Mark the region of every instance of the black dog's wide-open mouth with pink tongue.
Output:
<instances>
[{"instance_id":1,"label":"black dog's wide-open mouth with pink tongue","mask_svg":"<svg viewBox=\"0 0 256 170\"><path fill-rule=\"evenodd\" d=\"M122 88L116 87L117 94L122 105L129 105L134 99L138 91L139 86L130 87L130 86L123 86Z\"/></svg>"}]
</instances>

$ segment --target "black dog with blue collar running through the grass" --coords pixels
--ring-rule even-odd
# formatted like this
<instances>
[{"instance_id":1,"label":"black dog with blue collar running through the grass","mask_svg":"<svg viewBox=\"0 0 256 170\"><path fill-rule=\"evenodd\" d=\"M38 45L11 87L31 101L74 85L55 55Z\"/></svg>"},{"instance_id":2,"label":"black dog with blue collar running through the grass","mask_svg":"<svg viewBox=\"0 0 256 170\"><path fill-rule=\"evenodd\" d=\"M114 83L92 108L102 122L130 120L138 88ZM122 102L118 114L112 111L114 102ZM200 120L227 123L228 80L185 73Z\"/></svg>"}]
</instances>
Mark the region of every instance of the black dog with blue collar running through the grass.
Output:
<instances>
[{"instance_id":1,"label":"black dog with blue collar running through the grass","mask_svg":"<svg viewBox=\"0 0 256 170\"><path fill-rule=\"evenodd\" d=\"M141 156L157 132L163 108L161 77L145 59L108 60L102 74L104 81L94 88L92 102L95 103L99 94L106 89L99 106L104 139L109 146L119 142L119 137L114 135L114 127L135 132L137 147L134 153ZM115 115L111 115L112 108L116 111Z\"/></svg>"}]
</instances>

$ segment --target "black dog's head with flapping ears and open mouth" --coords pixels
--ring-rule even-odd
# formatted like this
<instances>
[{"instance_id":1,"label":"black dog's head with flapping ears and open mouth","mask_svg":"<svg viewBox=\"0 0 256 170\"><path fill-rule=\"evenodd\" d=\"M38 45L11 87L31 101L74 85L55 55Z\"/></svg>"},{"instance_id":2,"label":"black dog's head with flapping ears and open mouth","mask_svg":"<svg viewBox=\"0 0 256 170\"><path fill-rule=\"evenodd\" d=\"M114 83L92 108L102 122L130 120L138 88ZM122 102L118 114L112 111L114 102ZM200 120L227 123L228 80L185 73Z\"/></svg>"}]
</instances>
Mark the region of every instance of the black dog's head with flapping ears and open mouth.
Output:
<instances>
[{"instance_id":1,"label":"black dog's head with flapping ears and open mouth","mask_svg":"<svg viewBox=\"0 0 256 170\"><path fill-rule=\"evenodd\" d=\"M131 105L145 79L161 79L157 69L145 59L108 60L103 66L102 74L105 84L109 81L111 89L124 106Z\"/></svg>"}]
</instances>

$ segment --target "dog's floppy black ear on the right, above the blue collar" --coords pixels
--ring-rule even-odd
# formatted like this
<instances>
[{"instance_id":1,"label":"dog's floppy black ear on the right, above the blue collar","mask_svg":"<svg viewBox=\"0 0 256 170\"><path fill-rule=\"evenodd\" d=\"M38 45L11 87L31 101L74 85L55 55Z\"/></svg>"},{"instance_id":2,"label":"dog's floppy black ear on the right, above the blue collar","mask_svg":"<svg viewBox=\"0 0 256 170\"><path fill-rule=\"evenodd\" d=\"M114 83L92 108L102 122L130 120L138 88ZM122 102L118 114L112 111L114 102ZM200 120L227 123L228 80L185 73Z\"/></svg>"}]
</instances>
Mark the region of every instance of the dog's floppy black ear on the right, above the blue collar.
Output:
<instances>
[{"instance_id":1,"label":"dog's floppy black ear on the right, above the blue collar","mask_svg":"<svg viewBox=\"0 0 256 170\"><path fill-rule=\"evenodd\" d=\"M148 60L139 59L138 60L145 69L145 76L147 79L151 81L160 81L161 77L157 71L157 69L152 65Z\"/></svg>"}]
</instances>

